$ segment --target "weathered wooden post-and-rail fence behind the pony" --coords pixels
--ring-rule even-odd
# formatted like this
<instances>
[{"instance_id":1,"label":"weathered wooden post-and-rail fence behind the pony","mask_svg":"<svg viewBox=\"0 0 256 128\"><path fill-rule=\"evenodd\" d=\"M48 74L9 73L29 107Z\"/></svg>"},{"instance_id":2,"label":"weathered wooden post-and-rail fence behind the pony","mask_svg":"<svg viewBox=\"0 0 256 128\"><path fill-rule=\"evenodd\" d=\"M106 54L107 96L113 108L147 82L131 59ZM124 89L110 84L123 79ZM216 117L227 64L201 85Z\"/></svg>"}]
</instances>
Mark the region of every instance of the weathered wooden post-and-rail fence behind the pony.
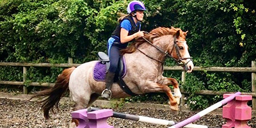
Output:
<instances>
[{"instance_id":1,"label":"weathered wooden post-and-rail fence behind the pony","mask_svg":"<svg viewBox=\"0 0 256 128\"><path fill-rule=\"evenodd\" d=\"M23 81L0 81L0 84L10 84L10 85L23 85L23 93L28 94L28 89L24 86L24 82L26 81L26 72L27 67L77 67L81 64L73 63L72 58L68 58L68 63L10 63L10 62L0 62L0 66L13 66L13 67L23 67ZM174 66L174 67L164 67L164 70L175 70L182 71L181 78L182 83L186 80L186 72L182 67ZM195 67L193 71L204 71L207 70L209 72L252 72L252 92L242 92L242 94L252 95L252 108L256 109L256 64L255 61L252 61L252 67ZM30 83L30 86L54 86L54 83ZM188 92L182 92L182 100L181 106L184 105L184 95ZM223 93L228 92L215 92L209 90L200 90L196 92L199 95L223 95Z\"/></svg>"}]
</instances>

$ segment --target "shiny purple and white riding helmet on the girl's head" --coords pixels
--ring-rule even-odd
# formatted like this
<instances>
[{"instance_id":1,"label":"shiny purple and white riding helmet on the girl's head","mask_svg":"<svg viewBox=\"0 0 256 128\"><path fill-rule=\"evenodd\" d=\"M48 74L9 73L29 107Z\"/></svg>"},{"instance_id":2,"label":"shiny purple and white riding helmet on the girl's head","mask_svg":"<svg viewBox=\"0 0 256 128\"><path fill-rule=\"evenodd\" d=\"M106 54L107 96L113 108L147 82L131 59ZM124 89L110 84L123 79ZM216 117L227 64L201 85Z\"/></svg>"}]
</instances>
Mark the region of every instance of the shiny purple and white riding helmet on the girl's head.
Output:
<instances>
[{"instance_id":1,"label":"shiny purple and white riding helmet on the girl's head","mask_svg":"<svg viewBox=\"0 0 256 128\"><path fill-rule=\"evenodd\" d=\"M137 10L146 11L145 5L141 1L131 1L127 6L127 12L131 13Z\"/></svg>"}]
</instances>

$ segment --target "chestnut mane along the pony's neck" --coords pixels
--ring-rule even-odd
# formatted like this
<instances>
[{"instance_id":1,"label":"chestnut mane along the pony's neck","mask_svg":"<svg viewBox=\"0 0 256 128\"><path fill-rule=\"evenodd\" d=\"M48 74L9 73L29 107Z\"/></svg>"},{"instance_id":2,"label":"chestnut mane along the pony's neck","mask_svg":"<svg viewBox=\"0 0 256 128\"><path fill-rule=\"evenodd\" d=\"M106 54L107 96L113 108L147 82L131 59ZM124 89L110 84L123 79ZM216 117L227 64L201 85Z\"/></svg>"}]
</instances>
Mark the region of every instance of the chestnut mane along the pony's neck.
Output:
<instances>
[{"instance_id":1,"label":"chestnut mane along the pony's neck","mask_svg":"<svg viewBox=\"0 0 256 128\"><path fill-rule=\"evenodd\" d=\"M149 40L150 42L154 43L153 42L154 38L158 38L158 37L161 37L161 36L164 36L164 35L175 35L177 33L177 31L179 31L179 30L182 31L180 28L159 27L159 28L153 29L148 34L145 34L144 37L147 40ZM134 43L129 45L129 47L127 47L126 49L121 50L120 52L121 52L121 54L132 53L132 52L136 51L136 47L139 47L144 42L146 42L146 41L143 38L137 38Z\"/></svg>"}]
</instances>

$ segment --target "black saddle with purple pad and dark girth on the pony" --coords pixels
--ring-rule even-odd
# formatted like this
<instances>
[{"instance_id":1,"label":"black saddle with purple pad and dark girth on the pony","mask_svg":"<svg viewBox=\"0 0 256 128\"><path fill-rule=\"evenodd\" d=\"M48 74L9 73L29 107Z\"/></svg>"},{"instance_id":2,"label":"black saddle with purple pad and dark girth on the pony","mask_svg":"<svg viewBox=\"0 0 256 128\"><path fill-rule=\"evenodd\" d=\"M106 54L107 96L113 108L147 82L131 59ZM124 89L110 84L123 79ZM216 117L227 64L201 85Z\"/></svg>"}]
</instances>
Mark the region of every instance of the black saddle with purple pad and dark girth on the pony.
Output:
<instances>
[{"instance_id":1,"label":"black saddle with purple pad and dark girth on the pony","mask_svg":"<svg viewBox=\"0 0 256 128\"><path fill-rule=\"evenodd\" d=\"M104 52L98 52L99 61L95 64L95 67L93 68L93 78L96 81L105 81L106 72L109 69L109 57ZM126 74L126 63L125 58L122 56L119 58L118 61L118 68L115 72L114 82L117 83L122 90L127 93L128 95L135 96L136 93L133 93L127 84L125 84L124 80L122 79Z\"/></svg>"}]
</instances>

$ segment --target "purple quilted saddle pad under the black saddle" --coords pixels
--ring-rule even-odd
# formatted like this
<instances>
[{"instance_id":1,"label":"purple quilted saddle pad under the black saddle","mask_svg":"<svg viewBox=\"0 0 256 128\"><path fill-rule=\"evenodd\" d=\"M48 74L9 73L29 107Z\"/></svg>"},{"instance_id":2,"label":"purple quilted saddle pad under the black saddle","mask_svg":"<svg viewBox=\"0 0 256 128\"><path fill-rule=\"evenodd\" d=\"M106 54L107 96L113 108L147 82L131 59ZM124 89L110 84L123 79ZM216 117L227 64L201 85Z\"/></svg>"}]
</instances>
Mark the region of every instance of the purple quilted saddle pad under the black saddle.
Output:
<instances>
[{"instance_id":1,"label":"purple quilted saddle pad under the black saddle","mask_svg":"<svg viewBox=\"0 0 256 128\"><path fill-rule=\"evenodd\" d=\"M125 63L124 56L122 57L122 61L123 61L124 69L121 77L124 77L126 74L126 63ZM107 72L106 64L102 64L100 63L100 61L98 61L93 68L93 78L95 79L95 81L105 81L106 72Z\"/></svg>"}]
</instances>

